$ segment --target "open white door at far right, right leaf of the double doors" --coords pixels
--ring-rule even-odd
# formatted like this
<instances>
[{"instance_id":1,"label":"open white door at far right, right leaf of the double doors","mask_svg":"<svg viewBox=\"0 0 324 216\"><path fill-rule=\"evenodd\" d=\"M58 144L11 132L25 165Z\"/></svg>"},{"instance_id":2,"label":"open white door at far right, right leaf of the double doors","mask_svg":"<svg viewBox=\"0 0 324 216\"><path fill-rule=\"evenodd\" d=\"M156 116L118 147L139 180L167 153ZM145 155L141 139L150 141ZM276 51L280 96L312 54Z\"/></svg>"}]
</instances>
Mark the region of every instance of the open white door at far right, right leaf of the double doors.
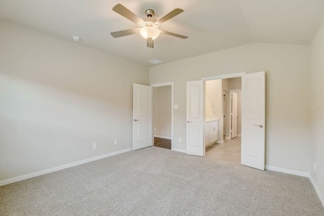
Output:
<instances>
[{"instance_id":1,"label":"open white door at far right, right leaf of the double doors","mask_svg":"<svg viewBox=\"0 0 324 216\"><path fill-rule=\"evenodd\" d=\"M242 75L241 164L264 170L265 72Z\"/></svg>"}]
</instances>

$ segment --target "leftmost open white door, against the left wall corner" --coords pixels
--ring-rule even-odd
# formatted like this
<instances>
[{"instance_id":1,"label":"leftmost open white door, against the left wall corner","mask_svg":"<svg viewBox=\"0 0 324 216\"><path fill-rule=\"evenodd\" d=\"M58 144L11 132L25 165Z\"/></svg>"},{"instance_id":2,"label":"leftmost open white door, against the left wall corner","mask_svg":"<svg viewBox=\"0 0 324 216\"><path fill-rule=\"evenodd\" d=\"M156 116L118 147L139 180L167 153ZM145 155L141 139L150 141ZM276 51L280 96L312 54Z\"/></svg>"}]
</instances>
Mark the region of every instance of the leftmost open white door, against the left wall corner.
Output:
<instances>
[{"instance_id":1,"label":"leftmost open white door, against the left wall corner","mask_svg":"<svg viewBox=\"0 0 324 216\"><path fill-rule=\"evenodd\" d=\"M153 87L133 84L133 150L153 145Z\"/></svg>"}]
</instances>

